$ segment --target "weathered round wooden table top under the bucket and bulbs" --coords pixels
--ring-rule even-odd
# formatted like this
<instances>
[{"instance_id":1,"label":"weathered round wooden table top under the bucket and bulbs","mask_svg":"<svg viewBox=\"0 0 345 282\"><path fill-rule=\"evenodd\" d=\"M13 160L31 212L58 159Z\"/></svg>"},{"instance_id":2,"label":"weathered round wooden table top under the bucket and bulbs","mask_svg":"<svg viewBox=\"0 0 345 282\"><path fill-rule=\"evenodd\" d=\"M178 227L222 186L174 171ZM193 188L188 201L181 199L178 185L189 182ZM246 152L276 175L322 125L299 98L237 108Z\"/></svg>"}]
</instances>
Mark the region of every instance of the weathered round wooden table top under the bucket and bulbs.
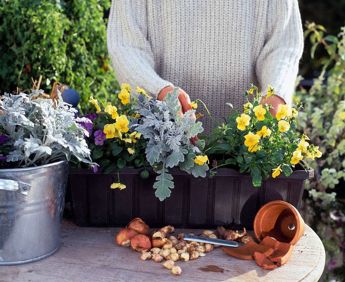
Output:
<instances>
[{"instance_id":1,"label":"weathered round wooden table top under the bucket and bulbs","mask_svg":"<svg viewBox=\"0 0 345 282\"><path fill-rule=\"evenodd\" d=\"M287 263L262 269L254 260L241 260L221 247L188 262L177 261L182 273L175 276L154 260L115 244L120 228L79 227L63 220L59 249L40 261L0 266L0 282L7 281L317 281L325 266L325 249L306 226ZM180 232L201 233L197 229ZM248 232L249 234L252 232Z\"/></svg>"}]
</instances>

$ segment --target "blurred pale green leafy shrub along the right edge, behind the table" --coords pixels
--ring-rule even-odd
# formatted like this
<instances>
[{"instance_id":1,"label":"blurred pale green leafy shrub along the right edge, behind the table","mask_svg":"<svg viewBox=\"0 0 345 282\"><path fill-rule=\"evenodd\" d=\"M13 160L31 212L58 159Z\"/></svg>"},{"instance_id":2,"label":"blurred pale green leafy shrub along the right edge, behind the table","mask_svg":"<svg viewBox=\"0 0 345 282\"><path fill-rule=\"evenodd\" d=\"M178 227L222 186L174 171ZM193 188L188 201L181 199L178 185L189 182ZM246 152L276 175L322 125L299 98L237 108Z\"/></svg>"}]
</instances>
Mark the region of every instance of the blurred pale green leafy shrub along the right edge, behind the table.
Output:
<instances>
[{"instance_id":1,"label":"blurred pale green leafy shrub along the right edge, behind the table","mask_svg":"<svg viewBox=\"0 0 345 282\"><path fill-rule=\"evenodd\" d=\"M321 158L308 161L315 177L306 183L306 202L311 227L322 239L329 258L324 277L344 281L345 27L333 36L326 35L323 26L307 22L304 34L312 42L312 58L318 48L323 47L327 54L320 61L321 74L313 86L295 94L295 100L304 101L297 129L323 153Z\"/></svg>"}]
</instances>

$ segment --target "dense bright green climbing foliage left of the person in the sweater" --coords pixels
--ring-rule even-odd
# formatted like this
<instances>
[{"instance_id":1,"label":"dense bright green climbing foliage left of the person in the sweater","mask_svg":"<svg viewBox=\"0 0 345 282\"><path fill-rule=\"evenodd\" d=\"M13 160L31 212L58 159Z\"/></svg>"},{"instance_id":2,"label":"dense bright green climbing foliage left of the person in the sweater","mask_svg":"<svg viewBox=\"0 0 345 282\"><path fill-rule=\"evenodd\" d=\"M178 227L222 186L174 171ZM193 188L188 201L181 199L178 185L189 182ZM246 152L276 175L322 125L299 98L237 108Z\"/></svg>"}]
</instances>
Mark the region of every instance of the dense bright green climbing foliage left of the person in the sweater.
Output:
<instances>
[{"instance_id":1,"label":"dense bright green climbing foliage left of the person in the sweater","mask_svg":"<svg viewBox=\"0 0 345 282\"><path fill-rule=\"evenodd\" d=\"M50 93L57 80L80 94L111 101L118 83L108 57L103 9L110 0L0 0L0 93L32 87ZM92 109L93 110L93 109Z\"/></svg>"}]
</instances>

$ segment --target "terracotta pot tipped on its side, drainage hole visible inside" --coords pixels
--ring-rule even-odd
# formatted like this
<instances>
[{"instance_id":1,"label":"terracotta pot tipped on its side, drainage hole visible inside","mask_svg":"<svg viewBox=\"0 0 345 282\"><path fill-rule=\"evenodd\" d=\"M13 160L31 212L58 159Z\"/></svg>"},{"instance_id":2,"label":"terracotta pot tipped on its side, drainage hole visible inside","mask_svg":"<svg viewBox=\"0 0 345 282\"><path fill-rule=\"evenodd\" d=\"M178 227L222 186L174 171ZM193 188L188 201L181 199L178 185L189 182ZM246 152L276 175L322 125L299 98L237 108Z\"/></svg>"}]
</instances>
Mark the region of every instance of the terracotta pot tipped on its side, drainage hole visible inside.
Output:
<instances>
[{"instance_id":1,"label":"terracotta pot tipped on its side, drainage hole visible inside","mask_svg":"<svg viewBox=\"0 0 345 282\"><path fill-rule=\"evenodd\" d=\"M304 230L304 220L297 209L284 201L269 202L255 215L254 233L259 242L269 236L294 245Z\"/></svg>"}]
</instances>

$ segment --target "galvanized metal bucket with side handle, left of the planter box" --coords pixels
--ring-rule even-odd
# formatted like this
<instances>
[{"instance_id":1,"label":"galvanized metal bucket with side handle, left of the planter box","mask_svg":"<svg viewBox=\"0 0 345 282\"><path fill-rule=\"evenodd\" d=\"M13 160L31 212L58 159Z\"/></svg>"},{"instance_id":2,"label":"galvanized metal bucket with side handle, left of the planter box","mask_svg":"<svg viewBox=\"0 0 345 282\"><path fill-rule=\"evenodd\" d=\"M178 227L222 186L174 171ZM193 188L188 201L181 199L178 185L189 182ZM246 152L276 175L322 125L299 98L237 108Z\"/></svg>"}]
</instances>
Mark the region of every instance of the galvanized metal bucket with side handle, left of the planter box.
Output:
<instances>
[{"instance_id":1,"label":"galvanized metal bucket with side handle, left of the planter box","mask_svg":"<svg viewBox=\"0 0 345 282\"><path fill-rule=\"evenodd\" d=\"M0 169L0 266L54 253L60 232L68 162Z\"/></svg>"}]
</instances>

